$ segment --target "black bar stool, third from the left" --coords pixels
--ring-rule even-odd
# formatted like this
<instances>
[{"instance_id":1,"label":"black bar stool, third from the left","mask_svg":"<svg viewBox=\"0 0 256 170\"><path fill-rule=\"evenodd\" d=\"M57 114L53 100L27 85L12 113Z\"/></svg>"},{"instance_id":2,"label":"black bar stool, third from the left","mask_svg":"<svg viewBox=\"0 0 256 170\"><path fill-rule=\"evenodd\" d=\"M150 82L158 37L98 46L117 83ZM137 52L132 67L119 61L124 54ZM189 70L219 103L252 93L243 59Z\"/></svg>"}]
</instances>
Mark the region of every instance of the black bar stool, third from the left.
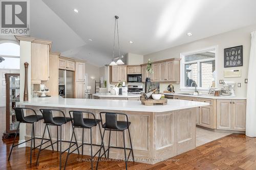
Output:
<instances>
[{"instance_id":1,"label":"black bar stool, third from the left","mask_svg":"<svg viewBox=\"0 0 256 170\"><path fill-rule=\"evenodd\" d=\"M66 169L66 165L67 165L67 162L68 162L69 155L72 154L75 150L78 150L78 148L82 147L82 155L83 155L83 145L84 144L90 144L91 145L91 169L93 169L93 158L101 150L101 145L92 143L92 128L99 125L101 120L96 119L94 113L88 112L88 111L69 111L70 117L72 117L71 113L73 113L73 120L74 120L74 123L72 124L73 125L73 132L72 132L72 136L71 136L71 140L70 140L70 144L69 144L69 150L68 150L68 155L67 155L67 159L66 159L64 169ZM93 115L93 118L83 118L83 113ZM71 143L72 143L73 135L75 134L75 128L82 128L82 144L77 149L70 152L70 148L72 147ZM83 129L90 129L90 141L91 141L90 143L84 143L83 142ZM101 130L100 130L100 125L99 125L99 132L100 132L100 137L101 137L101 140L102 140L102 133L101 133ZM92 148L93 145L96 145L96 146L100 147L100 149L96 152L95 155L93 155L93 148ZM103 146L103 150L104 150L104 153L105 153L104 146ZM105 155L105 157L106 157L106 155Z\"/></svg>"}]
</instances>

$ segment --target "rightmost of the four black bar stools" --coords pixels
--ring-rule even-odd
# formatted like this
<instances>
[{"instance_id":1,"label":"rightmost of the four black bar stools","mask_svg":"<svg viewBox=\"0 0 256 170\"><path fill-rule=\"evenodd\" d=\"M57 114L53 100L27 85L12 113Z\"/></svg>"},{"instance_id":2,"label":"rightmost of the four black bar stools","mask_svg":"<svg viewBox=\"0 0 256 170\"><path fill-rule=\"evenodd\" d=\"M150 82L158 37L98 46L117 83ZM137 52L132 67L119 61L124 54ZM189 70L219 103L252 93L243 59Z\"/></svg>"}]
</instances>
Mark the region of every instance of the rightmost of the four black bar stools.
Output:
<instances>
[{"instance_id":1,"label":"rightmost of the four black bar stools","mask_svg":"<svg viewBox=\"0 0 256 170\"><path fill-rule=\"evenodd\" d=\"M102 136L101 147L104 146L103 139L104 139L105 130L110 131L110 134L109 134L109 147L106 150L106 151L108 151L108 158L109 158L110 148L124 149L125 169L127 169L127 159L129 159L131 152L132 152L132 155L133 155L133 145L132 145L130 129L129 129L129 127L131 125L131 122L129 122L127 114L124 114L124 113L112 113L112 112L100 112L99 114L100 114L100 119L101 119L101 125L102 125L102 128L104 129L103 136ZM102 124L102 114L105 114L105 123L104 124ZM117 121L117 116L118 115L124 115L126 117L126 121ZM131 148L126 148L125 147L125 133L124 133L124 131L126 129L128 129L128 132L129 132ZM122 131L123 132L123 148L121 148L121 147L110 147L111 131ZM130 150L128 158L126 158L126 149ZM100 151L101 151L101 149L100 149ZM100 156L100 151L99 151L99 157L98 157L96 169L98 169L99 159L103 156L103 154ZM106 151L104 151L104 154L105 154ZM134 162L134 155L133 155L133 162Z\"/></svg>"}]
</instances>

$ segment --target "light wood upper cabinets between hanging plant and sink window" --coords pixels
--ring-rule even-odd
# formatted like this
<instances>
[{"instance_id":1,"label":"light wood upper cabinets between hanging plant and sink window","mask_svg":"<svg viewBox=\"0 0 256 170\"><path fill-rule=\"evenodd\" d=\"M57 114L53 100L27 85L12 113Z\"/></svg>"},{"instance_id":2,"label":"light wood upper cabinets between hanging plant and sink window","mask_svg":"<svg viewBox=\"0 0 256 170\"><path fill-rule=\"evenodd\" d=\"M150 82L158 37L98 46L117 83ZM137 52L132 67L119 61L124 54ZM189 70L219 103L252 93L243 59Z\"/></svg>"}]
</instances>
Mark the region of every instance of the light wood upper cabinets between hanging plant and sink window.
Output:
<instances>
[{"instance_id":1,"label":"light wood upper cabinets between hanging plant and sink window","mask_svg":"<svg viewBox=\"0 0 256 170\"><path fill-rule=\"evenodd\" d=\"M180 81L180 59L156 61L152 63L154 73L151 75L153 82L179 82ZM146 79L146 64L142 65L142 80Z\"/></svg>"}]
</instances>

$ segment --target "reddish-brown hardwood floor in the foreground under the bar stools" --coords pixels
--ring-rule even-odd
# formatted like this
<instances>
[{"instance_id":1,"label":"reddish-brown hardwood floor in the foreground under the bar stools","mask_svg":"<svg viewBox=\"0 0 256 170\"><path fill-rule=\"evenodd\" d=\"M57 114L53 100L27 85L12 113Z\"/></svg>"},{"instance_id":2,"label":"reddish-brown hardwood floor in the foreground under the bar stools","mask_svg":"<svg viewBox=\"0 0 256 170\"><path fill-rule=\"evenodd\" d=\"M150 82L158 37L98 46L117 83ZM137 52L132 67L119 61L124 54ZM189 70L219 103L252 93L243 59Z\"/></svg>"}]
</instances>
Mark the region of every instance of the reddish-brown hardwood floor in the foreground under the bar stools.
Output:
<instances>
[{"instance_id":1,"label":"reddish-brown hardwood floor in the foreground under the bar stools","mask_svg":"<svg viewBox=\"0 0 256 170\"><path fill-rule=\"evenodd\" d=\"M35 166L38 150L33 152L33 165L29 167L29 148L15 148L10 162L8 154L12 140L0 142L0 169L58 169L58 152L41 152L39 165ZM70 155L67 169L90 169L90 162L79 161L88 156ZM66 153L62 156L63 164ZM80 159L81 160L81 159ZM173 161L172 161L173 160ZM63 168L63 166L62 166ZM220 139L200 145L194 150L170 158L157 164L128 163L129 169L256 169L256 138L244 134L230 134ZM105 161L99 163L99 169L125 169L123 161Z\"/></svg>"}]
</instances>

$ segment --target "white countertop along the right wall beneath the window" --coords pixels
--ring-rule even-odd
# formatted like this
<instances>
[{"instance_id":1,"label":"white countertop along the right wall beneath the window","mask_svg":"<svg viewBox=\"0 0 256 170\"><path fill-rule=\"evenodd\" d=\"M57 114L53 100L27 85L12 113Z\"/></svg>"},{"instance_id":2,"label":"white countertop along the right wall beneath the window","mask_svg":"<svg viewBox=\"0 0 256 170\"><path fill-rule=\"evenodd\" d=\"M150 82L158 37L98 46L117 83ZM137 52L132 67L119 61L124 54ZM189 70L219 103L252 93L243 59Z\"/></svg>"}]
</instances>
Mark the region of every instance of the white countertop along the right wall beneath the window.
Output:
<instances>
[{"instance_id":1,"label":"white countertop along the right wall beneath the window","mask_svg":"<svg viewBox=\"0 0 256 170\"><path fill-rule=\"evenodd\" d=\"M228 99L228 100L246 100L246 97L230 97L230 96L214 96L214 95L191 95L191 94L180 94L180 93L164 93L164 95L177 95L177 96L185 96L190 98L205 98L205 99Z\"/></svg>"}]
</instances>

